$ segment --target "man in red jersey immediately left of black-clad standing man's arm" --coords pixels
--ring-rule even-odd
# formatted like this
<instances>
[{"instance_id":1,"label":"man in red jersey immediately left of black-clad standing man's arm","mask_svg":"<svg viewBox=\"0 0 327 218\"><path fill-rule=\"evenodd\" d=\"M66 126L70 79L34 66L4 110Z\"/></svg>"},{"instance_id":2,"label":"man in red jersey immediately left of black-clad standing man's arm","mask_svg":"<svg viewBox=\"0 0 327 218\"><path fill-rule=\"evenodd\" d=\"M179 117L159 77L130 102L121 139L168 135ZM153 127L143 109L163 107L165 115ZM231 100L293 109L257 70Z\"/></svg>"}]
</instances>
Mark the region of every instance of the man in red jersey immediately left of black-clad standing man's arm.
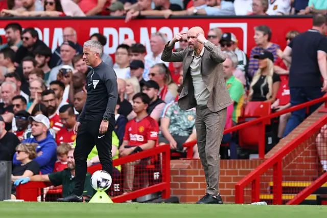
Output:
<instances>
[{"instance_id":1,"label":"man in red jersey immediately left of black-clad standing man's arm","mask_svg":"<svg viewBox=\"0 0 327 218\"><path fill-rule=\"evenodd\" d=\"M73 105L65 104L61 106L59 109L59 117L64 127L56 134L57 145L63 142L73 145L76 139L76 134L73 129L77 122Z\"/></svg>"}]
</instances>

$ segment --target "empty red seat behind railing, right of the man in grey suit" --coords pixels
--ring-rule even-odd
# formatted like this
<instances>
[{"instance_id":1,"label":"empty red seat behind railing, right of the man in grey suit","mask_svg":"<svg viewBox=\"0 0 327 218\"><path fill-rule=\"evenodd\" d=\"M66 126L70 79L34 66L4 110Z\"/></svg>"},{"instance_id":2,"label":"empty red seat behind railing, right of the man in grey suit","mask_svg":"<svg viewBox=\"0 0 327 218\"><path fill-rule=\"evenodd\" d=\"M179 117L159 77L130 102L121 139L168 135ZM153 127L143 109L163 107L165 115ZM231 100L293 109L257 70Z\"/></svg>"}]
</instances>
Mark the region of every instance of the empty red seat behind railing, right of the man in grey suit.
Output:
<instances>
[{"instance_id":1,"label":"empty red seat behind railing, right of the man in grey suit","mask_svg":"<svg viewBox=\"0 0 327 218\"><path fill-rule=\"evenodd\" d=\"M247 122L255 118L268 116L271 114L271 103L262 101L249 102L242 117L239 117L239 123ZM270 120L264 122L270 125ZM250 149L258 149L260 134L265 133L262 129L262 123L253 124L239 130L239 145Z\"/></svg>"}]
</instances>

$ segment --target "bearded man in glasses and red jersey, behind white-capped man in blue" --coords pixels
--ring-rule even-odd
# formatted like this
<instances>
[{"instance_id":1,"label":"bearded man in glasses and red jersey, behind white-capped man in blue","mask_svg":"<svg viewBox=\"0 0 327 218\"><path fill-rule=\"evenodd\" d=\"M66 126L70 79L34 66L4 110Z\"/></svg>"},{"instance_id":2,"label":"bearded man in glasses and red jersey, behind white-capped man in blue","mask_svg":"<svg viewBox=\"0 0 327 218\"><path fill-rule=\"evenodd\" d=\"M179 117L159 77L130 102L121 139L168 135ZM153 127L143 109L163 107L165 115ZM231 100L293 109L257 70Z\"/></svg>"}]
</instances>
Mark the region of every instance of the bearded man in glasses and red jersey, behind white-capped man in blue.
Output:
<instances>
[{"instance_id":1,"label":"bearded man in glasses and red jersey, behind white-capped man in blue","mask_svg":"<svg viewBox=\"0 0 327 218\"><path fill-rule=\"evenodd\" d=\"M44 90L41 93L42 103L46 106L49 114L50 120L50 128L53 128L56 132L58 132L62 128L62 123L60 120L59 113L57 112L58 101L56 98L56 94L52 90Z\"/></svg>"}]
</instances>

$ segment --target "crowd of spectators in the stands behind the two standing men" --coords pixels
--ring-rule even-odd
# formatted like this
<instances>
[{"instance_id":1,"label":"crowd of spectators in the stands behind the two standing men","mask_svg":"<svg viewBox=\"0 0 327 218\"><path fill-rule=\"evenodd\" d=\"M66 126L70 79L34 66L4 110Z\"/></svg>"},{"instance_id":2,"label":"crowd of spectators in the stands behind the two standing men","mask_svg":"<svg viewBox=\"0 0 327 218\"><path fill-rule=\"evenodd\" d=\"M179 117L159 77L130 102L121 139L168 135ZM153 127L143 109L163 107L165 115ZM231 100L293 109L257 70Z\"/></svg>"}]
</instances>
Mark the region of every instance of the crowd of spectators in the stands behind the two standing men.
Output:
<instances>
[{"instance_id":1,"label":"crowd of spectators in the stands behind the two standing men","mask_svg":"<svg viewBox=\"0 0 327 218\"><path fill-rule=\"evenodd\" d=\"M145 15L283 15L309 14L315 10L325 13L327 9L327 1L314 0L310 0L309 5L308 1L295 0L292 1L293 7L291 1L286 0L276 0L273 4L267 0L198 0L185 1L181 5L166 0L153 3L150 0L111 1L109 5L107 1L85 1L8 1L8 9L3 9L1 15L110 14L126 15L128 21ZM49 177L39 180L62 184L59 177L74 176L75 173L74 158L69 155L76 143L73 127L86 100L86 75L90 68L83 60L82 45L78 43L74 27L63 30L64 42L53 53L33 28L23 30L18 23L10 23L5 31L7 43L0 45L0 160L13 162L13 182L40 172ZM295 30L288 32L285 36L287 43L298 34ZM233 104L227 109L225 129L239 123L243 108L249 102L270 102L273 111L291 106L288 87L290 63L283 57L284 48L271 41L271 35L268 26L256 27L253 36L256 46L247 56L238 48L235 34L219 28L207 30L206 38L226 54L223 70ZM90 39L100 41L103 46L107 41L100 33L91 35ZM182 63L161 60L167 42L165 34L155 32L150 37L150 53L141 43L125 39L116 48L113 59L108 54L102 55L102 60L115 70L118 80L119 98L111 150L113 159L134 154L137 146L147 150L164 144L169 144L177 157L185 157L183 143L196 139L195 108L182 111L177 104L183 81ZM179 42L179 47L175 51L188 47L186 37ZM134 118L139 117L147 118L136 122ZM290 113L279 117L278 140L285 135L290 117ZM232 134L225 134L222 144L229 143L237 141ZM192 149L193 157L199 158L197 145ZM221 156L229 158L223 148ZM87 166L97 163L99 157L95 147L87 158ZM135 164L138 163L114 169L113 179L119 177L122 168L128 172L124 178L124 193L133 190ZM64 170L72 172L63 175ZM14 186L12 193L15 194ZM65 193L70 194L67 190Z\"/></svg>"}]
</instances>

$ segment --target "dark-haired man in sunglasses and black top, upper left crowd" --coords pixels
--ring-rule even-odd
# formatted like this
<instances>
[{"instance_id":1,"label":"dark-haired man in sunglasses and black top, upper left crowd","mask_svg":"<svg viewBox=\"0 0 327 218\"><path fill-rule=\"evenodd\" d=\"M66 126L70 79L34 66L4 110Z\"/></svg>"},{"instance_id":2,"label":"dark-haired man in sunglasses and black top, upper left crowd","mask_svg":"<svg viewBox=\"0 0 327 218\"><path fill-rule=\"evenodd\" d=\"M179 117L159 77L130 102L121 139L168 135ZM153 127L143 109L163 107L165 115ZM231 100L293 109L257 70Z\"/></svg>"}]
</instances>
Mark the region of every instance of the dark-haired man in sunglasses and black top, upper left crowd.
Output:
<instances>
[{"instance_id":1,"label":"dark-haired man in sunglasses and black top, upper left crowd","mask_svg":"<svg viewBox=\"0 0 327 218\"><path fill-rule=\"evenodd\" d=\"M46 46L43 41L39 39L39 34L34 28L26 28L21 33L22 46L16 52L15 66L19 66L22 59L31 56L34 57L34 50L39 46Z\"/></svg>"}]
</instances>

